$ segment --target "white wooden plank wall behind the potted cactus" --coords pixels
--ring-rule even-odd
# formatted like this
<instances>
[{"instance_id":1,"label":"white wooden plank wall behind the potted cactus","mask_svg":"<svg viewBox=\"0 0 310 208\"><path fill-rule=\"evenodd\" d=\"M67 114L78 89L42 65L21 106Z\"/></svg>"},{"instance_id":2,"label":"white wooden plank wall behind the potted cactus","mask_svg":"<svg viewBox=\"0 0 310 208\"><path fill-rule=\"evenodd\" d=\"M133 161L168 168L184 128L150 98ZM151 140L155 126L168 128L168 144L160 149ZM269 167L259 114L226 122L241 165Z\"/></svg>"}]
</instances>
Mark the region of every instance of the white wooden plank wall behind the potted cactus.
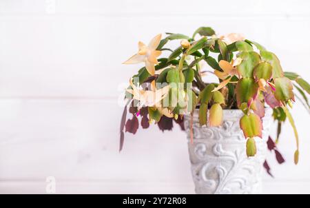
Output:
<instances>
[{"instance_id":1,"label":"white wooden plank wall behind the potted cactus","mask_svg":"<svg viewBox=\"0 0 310 208\"><path fill-rule=\"evenodd\" d=\"M0 1L0 193L194 193L184 132L154 126L125 135L118 153L121 65L160 32L241 32L310 81L310 1ZM309 193L309 114L296 103L300 163L287 124L287 162L267 174L265 193ZM273 131L274 132L274 131Z\"/></svg>"}]
</instances>

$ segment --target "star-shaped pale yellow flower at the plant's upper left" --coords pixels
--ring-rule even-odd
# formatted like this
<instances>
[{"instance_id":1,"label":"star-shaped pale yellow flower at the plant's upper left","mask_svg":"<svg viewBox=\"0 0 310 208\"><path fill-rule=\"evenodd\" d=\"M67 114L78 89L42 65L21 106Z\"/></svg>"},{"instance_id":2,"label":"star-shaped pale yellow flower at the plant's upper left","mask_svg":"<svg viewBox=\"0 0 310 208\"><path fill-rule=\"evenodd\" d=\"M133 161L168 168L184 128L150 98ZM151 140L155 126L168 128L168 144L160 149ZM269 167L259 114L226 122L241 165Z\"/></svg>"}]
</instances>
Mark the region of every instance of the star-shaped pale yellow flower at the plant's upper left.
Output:
<instances>
[{"instance_id":1,"label":"star-shaped pale yellow flower at the plant's upper left","mask_svg":"<svg viewBox=\"0 0 310 208\"><path fill-rule=\"evenodd\" d=\"M156 50L159 43L161 42L161 34L156 35L150 42L149 45L145 45L141 41L138 43L138 53L130 57L123 64L134 64L134 63L145 63L147 72L152 76L155 74L155 64L158 64L157 57L161 55L160 50Z\"/></svg>"}]
</instances>

